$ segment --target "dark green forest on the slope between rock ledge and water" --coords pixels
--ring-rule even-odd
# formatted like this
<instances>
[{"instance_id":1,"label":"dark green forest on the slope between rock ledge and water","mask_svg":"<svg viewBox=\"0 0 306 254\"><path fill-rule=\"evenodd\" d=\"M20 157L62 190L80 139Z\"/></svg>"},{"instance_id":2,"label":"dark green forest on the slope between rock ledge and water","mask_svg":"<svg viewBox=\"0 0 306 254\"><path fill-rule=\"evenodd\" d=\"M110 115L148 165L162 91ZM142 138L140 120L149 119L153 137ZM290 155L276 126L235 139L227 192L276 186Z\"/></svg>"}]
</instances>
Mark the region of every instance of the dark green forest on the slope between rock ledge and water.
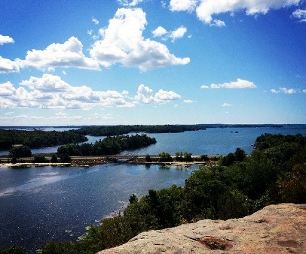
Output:
<instances>
[{"instance_id":1,"label":"dark green forest on the slope between rock ledge and water","mask_svg":"<svg viewBox=\"0 0 306 254\"><path fill-rule=\"evenodd\" d=\"M237 148L217 165L200 166L184 187L148 190L100 226L92 225L76 242L50 241L42 253L95 253L137 234L202 219L230 219L281 202L306 202L306 137L264 134L249 156ZM177 156L182 156L177 154ZM27 253L18 247L18 253ZM11 251L11 252L4 252ZM17 253L11 249L0 253Z\"/></svg>"}]
</instances>

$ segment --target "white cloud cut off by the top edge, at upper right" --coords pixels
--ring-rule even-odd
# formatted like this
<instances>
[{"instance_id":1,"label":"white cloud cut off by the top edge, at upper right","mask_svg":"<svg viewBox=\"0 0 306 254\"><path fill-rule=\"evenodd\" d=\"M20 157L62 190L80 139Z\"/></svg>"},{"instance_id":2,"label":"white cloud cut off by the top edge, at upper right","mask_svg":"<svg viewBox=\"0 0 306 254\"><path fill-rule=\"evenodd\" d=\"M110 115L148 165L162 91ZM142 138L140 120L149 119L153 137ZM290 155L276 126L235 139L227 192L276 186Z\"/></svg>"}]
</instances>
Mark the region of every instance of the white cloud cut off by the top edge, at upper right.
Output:
<instances>
[{"instance_id":1,"label":"white cloud cut off by the top edge, at upper right","mask_svg":"<svg viewBox=\"0 0 306 254\"><path fill-rule=\"evenodd\" d=\"M213 19L213 15L241 10L245 10L247 15L266 14L271 9L297 6L301 2L302 0L170 0L169 7L171 11L195 11L201 21L211 26L223 27L224 21Z\"/></svg>"}]
</instances>

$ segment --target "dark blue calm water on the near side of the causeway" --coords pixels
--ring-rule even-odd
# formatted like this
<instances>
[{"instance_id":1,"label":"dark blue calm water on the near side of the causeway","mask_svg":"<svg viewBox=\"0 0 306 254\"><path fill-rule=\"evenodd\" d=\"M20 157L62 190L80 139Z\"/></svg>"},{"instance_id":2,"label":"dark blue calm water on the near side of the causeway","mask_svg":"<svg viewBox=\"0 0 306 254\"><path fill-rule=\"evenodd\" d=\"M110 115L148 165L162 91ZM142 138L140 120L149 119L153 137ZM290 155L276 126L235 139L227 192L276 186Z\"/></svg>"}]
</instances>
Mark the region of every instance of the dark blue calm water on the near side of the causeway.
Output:
<instances>
[{"instance_id":1,"label":"dark blue calm water on the near side of the causeway","mask_svg":"<svg viewBox=\"0 0 306 254\"><path fill-rule=\"evenodd\" d=\"M131 194L184 185L190 169L157 165L0 168L0 248L34 251L45 241L76 240L120 209Z\"/></svg>"}]
</instances>

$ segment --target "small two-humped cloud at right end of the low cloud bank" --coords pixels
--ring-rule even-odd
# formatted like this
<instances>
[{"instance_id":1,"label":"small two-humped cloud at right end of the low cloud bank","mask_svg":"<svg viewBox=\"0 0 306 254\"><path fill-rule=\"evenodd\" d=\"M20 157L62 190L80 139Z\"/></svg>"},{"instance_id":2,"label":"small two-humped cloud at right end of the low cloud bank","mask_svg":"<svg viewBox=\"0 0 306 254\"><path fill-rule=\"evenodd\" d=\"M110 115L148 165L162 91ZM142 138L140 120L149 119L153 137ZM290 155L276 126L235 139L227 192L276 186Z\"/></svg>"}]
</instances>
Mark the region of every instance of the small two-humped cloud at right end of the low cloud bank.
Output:
<instances>
[{"instance_id":1,"label":"small two-humped cloud at right end of the low cloud bank","mask_svg":"<svg viewBox=\"0 0 306 254\"><path fill-rule=\"evenodd\" d=\"M157 93L153 93L153 90L149 87L141 84L137 89L137 95L135 101L137 103L168 103L171 100L180 99L181 95L173 91L164 91L160 89Z\"/></svg>"}]
</instances>

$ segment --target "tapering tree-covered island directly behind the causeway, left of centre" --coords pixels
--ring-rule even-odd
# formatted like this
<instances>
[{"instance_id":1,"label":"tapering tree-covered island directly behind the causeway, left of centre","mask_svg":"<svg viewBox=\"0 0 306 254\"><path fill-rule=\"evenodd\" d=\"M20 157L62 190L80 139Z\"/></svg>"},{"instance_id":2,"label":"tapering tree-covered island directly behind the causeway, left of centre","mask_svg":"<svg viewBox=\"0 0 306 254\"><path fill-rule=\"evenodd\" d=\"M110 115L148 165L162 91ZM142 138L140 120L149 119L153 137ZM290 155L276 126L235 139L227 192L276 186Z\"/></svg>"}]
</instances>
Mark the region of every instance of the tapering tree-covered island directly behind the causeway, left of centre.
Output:
<instances>
[{"instance_id":1,"label":"tapering tree-covered island directly behind the causeway, left of centre","mask_svg":"<svg viewBox=\"0 0 306 254\"><path fill-rule=\"evenodd\" d=\"M67 144L58 148L59 156L95 156L95 155L114 155L123 150L138 149L155 144L156 139L150 138L146 134L142 135L118 135L107 137L96 141L94 144Z\"/></svg>"}]
</instances>

